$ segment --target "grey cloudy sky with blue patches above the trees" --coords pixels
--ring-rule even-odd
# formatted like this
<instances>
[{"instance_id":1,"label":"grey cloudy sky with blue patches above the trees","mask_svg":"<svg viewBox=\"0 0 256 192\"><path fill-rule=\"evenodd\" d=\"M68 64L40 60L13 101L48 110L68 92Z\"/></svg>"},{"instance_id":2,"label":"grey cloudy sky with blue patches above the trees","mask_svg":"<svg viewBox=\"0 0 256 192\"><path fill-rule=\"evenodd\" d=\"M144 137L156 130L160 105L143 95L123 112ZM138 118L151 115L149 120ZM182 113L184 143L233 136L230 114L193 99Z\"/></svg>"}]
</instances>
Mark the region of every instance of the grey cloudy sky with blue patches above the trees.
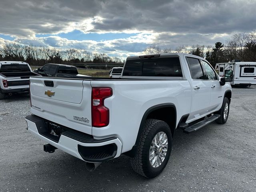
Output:
<instances>
[{"instance_id":1,"label":"grey cloudy sky with blue patches above the trees","mask_svg":"<svg viewBox=\"0 0 256 192\"><path fill-rule=\"evenodd\" d=\"M1 0L0 46L126 57L150 45L213 45L256 29L256 0Z\"/></svg>"}]
</instances>

